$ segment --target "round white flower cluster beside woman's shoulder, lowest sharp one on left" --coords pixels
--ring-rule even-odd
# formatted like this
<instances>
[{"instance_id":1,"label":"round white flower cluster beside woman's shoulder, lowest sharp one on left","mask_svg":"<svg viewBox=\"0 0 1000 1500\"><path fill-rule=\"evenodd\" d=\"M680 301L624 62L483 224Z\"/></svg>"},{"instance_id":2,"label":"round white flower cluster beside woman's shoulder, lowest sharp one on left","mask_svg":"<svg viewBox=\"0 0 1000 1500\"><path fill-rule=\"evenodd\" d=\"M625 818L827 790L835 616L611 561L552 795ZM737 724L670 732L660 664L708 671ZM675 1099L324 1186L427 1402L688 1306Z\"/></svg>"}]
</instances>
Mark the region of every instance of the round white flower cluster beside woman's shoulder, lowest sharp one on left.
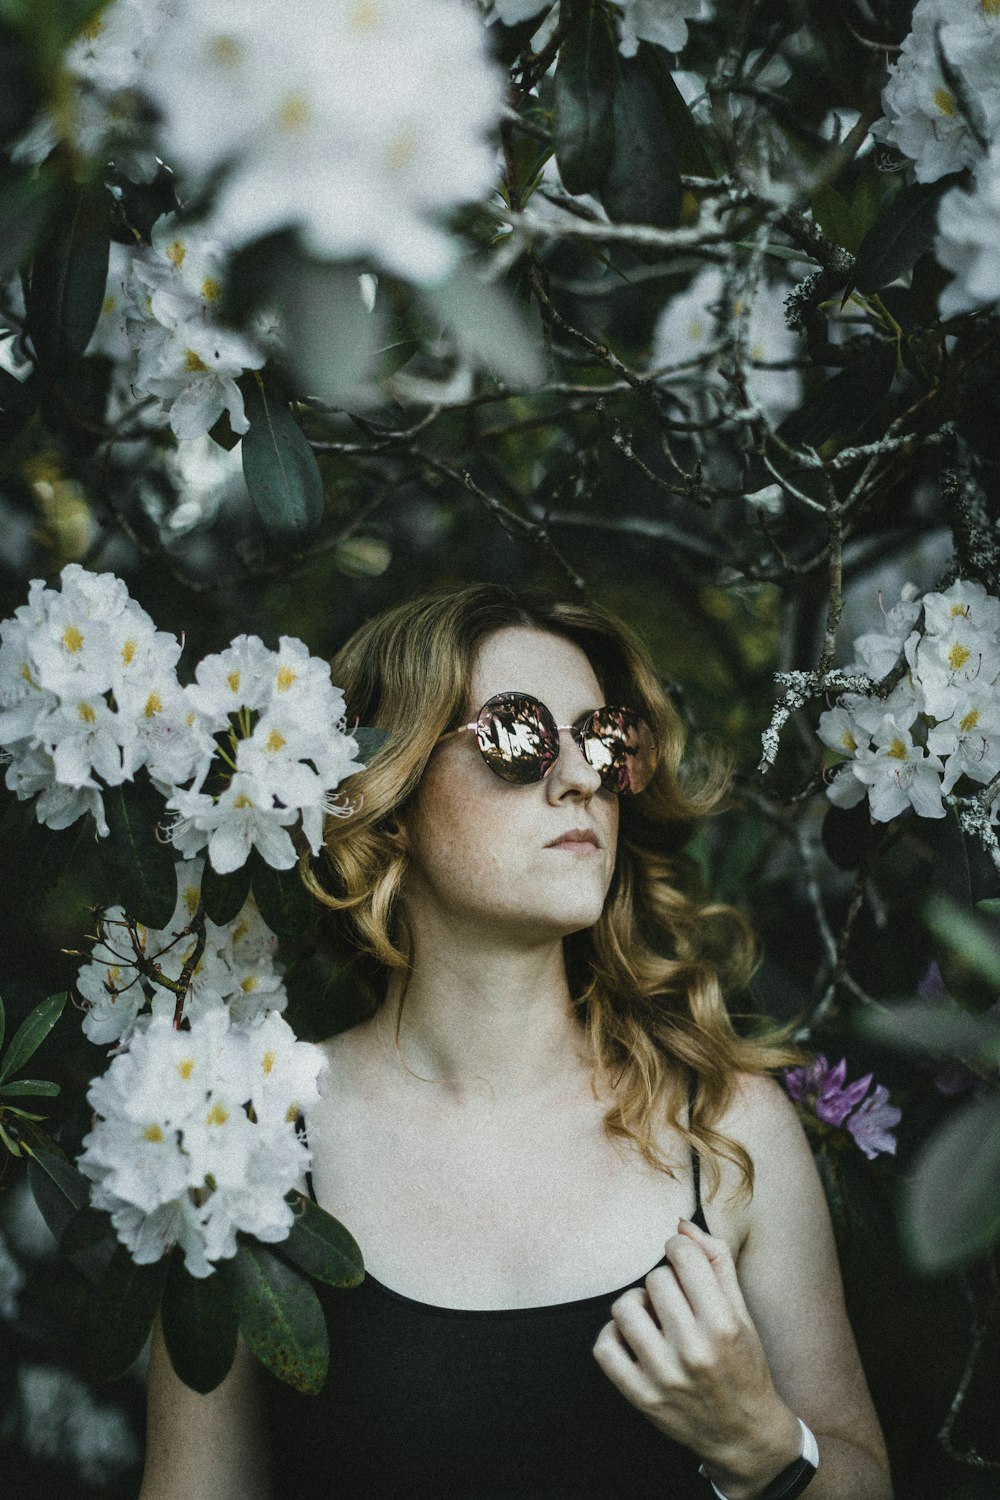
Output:
<instances>
[{"instance_id":1,"label":"round white flower cluster beside woman's shoulder, lowest sharp one on left","mask_svg":"<svg viewBox=\"0 0 1000 1500\"><path fill-rule=\"evenodd\" d=\"M180 1245L190 1275L208 1276L237 1233L288 1236L285 1194L310 1162L295 1122L324 1066L274 1011L235 1024L213 1010L189 1030L154 1016L132 1038L90 1084L97 1119L78 1164L138 1264Z\"/></svg>"}]
</instances>

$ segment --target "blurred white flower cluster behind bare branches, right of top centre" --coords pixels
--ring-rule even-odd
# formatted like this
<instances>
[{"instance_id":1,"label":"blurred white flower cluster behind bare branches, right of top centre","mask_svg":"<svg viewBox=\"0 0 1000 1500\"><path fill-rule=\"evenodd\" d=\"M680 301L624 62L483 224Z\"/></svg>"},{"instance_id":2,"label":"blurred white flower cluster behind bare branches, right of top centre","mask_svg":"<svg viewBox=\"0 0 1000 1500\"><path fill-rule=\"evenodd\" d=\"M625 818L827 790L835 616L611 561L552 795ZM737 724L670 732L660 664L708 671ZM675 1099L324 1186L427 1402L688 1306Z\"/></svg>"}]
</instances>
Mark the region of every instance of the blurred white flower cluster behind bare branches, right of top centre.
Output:
<instances>
[{"instance_id":1,"label":"blurred white flower cluster behind bare branches, right of top centre","mask_svg":"<svg viewBox=\"0 0 1000 1500\"><path fill-rule=\"evenodd\" d=\"M766 369L801 352L798 334L784 321L787 291L787 286L760 280L747 297L747 306L742 302L727 306L723 272L706 266L660 314L652 336L652 368L705 362L712 386L721 392L721 345L738 338L750 362L748 394L777 424L795 411L802 396L798 370Z\"/></svg>"}]
</instances>

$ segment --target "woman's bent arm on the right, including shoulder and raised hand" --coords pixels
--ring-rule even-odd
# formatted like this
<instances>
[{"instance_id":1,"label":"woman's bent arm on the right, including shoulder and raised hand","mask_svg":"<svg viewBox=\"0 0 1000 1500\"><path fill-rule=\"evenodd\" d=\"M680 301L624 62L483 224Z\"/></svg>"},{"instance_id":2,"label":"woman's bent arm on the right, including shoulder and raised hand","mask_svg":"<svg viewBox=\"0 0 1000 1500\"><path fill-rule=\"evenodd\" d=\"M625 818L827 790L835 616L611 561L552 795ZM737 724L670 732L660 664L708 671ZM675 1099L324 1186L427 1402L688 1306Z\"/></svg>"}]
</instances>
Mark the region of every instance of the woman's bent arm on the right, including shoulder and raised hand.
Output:
<instances>
[{"instance_id":1,"label":"woman's bent arm on the right, including shoulder and raised hand","mask_svg":"<svg viewBox=\"0 0 1000 1500\"><path fill-rule=\"evenodd\" d=\"M718 1128L756 1168L738 1268L723 1239L682 1221L667 1240L670 1264L651 1272L645 1293L618 1299L594 1356L639 1410L702 1456L730 1500L756 1500L798 1456L796 1418L820 1448L808 1500L891 1500L798 1116L777 1084L745 1078Z\"/></svg>"}]
</instances>

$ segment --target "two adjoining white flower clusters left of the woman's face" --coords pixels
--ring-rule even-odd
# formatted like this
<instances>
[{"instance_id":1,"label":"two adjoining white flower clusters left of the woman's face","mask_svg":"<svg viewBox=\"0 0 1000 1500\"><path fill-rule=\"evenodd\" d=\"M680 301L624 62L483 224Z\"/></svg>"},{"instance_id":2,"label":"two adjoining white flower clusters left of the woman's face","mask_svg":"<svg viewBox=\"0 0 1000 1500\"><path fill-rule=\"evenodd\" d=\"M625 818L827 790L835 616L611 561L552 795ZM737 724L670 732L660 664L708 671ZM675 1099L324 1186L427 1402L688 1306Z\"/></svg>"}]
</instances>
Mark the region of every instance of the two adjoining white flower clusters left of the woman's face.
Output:
<instances>
[{"instance_id":1,"label":"two adjoining white flower clusters left of the woman's face","mask_svg":"<svg viewBox=\"0 0 1000 1500\"><path fill-rule=\"evenodd\" d=\"M91 812L106 837L103 788L145 768L184 858L207 848L228 873L256 848L289 870L297 824L318 854L325 816L351 810L336 788L361 770L327 663L291 636L277 651L237 636L181 687L178 640L120 579L70 562L60 584L31 582L27 604L0 624L6 784L37 798L39 822L66 828Z\"/></svg>"}]
</instances>

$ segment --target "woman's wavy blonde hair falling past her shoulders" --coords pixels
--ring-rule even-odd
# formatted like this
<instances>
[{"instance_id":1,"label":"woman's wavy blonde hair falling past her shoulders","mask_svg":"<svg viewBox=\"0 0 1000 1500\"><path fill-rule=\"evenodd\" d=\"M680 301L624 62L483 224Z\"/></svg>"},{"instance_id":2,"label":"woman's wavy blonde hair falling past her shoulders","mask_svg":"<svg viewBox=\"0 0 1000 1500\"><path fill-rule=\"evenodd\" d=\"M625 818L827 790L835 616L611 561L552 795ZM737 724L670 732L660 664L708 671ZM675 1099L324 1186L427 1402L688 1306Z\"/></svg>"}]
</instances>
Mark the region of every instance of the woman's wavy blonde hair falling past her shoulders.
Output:
<instances>
[{"instance_id":1,"label":"woman's wavy blonde hair falling past her shoulders","mask_svg":"<svg viewBox=\"0 0 1000 1500\"><path fill-rule=\"evenodd\" d=\"M441 735L478 708L469 704L469 681L480 645L511 626L580 646L604 700L639 710L660 748L649 786L622 798L604 910L594 927L565 939L570 990L594 1066L616 1076L604 1128L673 1176L655 1144L666 1119L703 1158L709 1191L718 1188L718 1156L736 1166L751 1191L748 1154L712 1126L735 1074L771 1072L799 1059L784 1034L741 1036L733 1028L726 994L750 982L753 934L735 908L699 898L682 854L699 819L721 806L727 768L715 758L682 770L684 724L648 652L612 614L478 584L438 590L361 626L333 658L333 681L348 712L388 730L388 740L345 783L354 816L328 819L325 854L304 867L306 884L337 914L340 939L376 988L388 970L409 969L399 900L408 810Z\"/></svg>"}]
</instances>

